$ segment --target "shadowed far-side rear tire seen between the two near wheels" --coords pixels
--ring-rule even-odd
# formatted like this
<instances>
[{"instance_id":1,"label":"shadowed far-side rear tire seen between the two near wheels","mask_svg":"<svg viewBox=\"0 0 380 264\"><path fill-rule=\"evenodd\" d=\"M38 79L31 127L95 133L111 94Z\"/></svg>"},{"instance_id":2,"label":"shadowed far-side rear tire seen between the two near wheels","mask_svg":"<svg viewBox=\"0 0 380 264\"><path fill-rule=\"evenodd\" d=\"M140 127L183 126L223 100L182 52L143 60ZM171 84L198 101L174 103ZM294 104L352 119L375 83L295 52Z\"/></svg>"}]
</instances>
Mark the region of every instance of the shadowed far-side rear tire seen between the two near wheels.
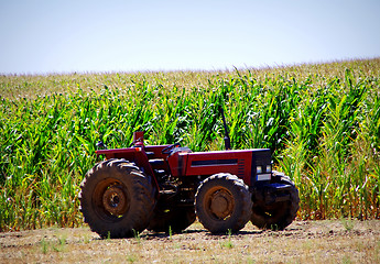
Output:
<instances>
[{"instance_id":1,"label":"shadowed far-side rear tire seen between the two near wheels","mask_svg":"<svg viewBox=\"0 0 380 264\"><path fill-rule=\"evenodd\" d=\"M160 202L154 208L154 213L148 230L154 232L180 233L188 228L196 219L194 207L167 208Z\"/></svg>"}]
</instances>

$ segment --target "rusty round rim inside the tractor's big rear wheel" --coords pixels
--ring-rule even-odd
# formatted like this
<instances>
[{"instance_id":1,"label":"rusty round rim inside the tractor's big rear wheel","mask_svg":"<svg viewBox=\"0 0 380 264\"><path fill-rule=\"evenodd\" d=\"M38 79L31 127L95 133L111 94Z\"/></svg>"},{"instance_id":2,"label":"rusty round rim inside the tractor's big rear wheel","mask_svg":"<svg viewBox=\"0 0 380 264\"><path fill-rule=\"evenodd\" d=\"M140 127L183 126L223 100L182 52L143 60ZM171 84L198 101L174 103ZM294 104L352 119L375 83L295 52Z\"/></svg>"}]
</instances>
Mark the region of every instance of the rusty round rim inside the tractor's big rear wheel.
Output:
<instances>
[{"instance_id":1,"label":"rusty round rim inside the tractor's big rear wheel","mask_svg":"<svg viewBox=\"0 0 380 264\"><path fill-rule=\"evenodd\" d=\"M93 196L94 208L104 220L122 218L129 210L129 201L127 187L113 178L99 183Z\"/></svg>"}]
</instances>

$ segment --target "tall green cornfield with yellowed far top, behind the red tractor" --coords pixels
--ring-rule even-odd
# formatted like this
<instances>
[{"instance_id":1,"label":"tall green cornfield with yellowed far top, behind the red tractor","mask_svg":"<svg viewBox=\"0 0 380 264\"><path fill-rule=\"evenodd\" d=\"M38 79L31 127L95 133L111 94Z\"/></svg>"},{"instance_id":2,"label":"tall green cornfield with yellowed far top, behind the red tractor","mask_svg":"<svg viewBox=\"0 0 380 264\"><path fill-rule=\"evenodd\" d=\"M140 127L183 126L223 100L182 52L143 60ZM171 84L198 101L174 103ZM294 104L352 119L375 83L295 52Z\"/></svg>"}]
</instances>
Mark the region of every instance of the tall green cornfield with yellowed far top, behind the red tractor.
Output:
<instances>
[{"instance_id":1,"label":"tall green cornfield with yellowed far top, behind the red tractor","mask_svg":"<svg viewBox=\"0 0 380 264\"><path fill-rule=\"evenodd\" d=\"M380 58L225 72L0 76L0 231L83 223L96 143L271 148L298 219L380 218Z\"/></svg>"}]
</instances>

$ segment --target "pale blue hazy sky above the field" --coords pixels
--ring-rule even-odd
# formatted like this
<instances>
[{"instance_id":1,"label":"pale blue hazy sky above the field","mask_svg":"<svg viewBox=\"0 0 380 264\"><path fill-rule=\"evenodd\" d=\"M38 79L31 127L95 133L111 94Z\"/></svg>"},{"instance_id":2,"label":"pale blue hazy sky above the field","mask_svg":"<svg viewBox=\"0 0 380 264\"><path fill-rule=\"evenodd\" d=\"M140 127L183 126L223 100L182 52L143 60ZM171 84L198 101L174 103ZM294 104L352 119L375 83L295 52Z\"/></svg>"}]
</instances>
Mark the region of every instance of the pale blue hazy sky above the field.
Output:
<instances>
[{"instance_id":1,"label":"pale blue hazy sky above the field","mask_svg":"<svg viewBox=\"0 0 380 264\"><path fill-rule=\"evenodd\" d=\"M0 0L0 74L218 70L380 56L380 0Z\"/></svg>"}]
</instances>

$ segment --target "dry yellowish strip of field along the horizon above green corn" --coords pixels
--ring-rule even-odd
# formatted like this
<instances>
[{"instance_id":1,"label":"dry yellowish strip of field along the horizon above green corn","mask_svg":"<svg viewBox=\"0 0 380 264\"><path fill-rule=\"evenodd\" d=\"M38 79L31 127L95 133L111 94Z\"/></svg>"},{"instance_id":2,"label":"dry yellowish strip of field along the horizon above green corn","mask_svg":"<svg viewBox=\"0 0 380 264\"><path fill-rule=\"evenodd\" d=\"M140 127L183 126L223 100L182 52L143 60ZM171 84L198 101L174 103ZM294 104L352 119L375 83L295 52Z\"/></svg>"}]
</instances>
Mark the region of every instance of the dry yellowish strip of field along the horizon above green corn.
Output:
<instances>
[{"instance_id":1,"label":"dry yellowish strip of field along the horizon above green corn","mask_svg":"<svg viewBox=\"0 0 380 264\"><path fill-rule=\"evenodd\" d=\"M186 90L204 89L209 81L231 79L249 75L259 81L273 76L289 76L297 79L327 80L332 77L344 78L345 69L367 76L380 75L380 58L329 62L321 64L285 65L281 67L246 68L237 70L177 70L177 72L141 72L141 73L74 73L51 75L0 75L0 98L35 99L37 96L52 94L70 94L80 88L85 92L99 92L105 86L111 89L129 89L135 82L145 81L151 86L164 89L173 87Z\"/></svg>"}]
</instances>

